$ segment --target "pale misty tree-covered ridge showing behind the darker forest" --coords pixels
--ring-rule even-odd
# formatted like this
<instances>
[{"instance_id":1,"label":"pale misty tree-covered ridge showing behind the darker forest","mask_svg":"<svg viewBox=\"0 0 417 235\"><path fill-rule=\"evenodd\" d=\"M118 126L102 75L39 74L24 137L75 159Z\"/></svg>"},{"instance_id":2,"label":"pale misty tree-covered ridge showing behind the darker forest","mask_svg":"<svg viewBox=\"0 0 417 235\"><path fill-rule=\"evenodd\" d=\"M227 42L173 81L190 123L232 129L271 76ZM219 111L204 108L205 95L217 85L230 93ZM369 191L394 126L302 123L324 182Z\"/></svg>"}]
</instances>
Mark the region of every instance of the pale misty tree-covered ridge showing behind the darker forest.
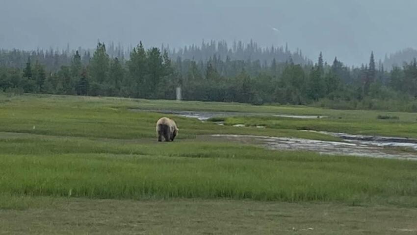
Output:
<instances>
[{"instance_id":1,"label":"pale misty tree-covered ridge showing behind the darker forest","mask_svg":"<svg viewBox=\"0 0 417 235\"><path fill-rule=\"evenodd\" d=\"M125 47L120 43L115 44L114 42L110 42L107 45L107 54L111 58L117 57L121 60L128 60L133 48L131 45ZM257 42L250 40L249 43L234 41L232 46L229 46L224 40L219 42L214 40L205 42L203 40L201 45L192 44L185 47L170 48L169 44L166 44L166 46L162 44L159 49L162 52L166 50L171 58L182 60L207 62L212 58L216 58L224 61L260 61L263 65L270 65L273 60L278 63L292 60L295 64L313 65L313 60L304 55L298 47L295 49L295 52L292 52L288 47L288 43L285 46L261 47ZM19 48L5 49L0 47L0 65L23 68L26 64L26 58L30 56L44 64L48 70L56 71L63 65L69 65L76 51L82 55L82 61L86 64L95 49L83 47L74 49L70 47L69 43L67 43L67 47L64 49L50 47L49 49L21 50ZM404 63L412 62L416 57L417 50L409 47L391 53L389 56L385 54L384 60L379 60L378 64L390 71L393 67L401 67ZM53 63L51 63L52 60L54 61ZM355 66L352 66L353 68Z\"/></svg>"}]
</instances>

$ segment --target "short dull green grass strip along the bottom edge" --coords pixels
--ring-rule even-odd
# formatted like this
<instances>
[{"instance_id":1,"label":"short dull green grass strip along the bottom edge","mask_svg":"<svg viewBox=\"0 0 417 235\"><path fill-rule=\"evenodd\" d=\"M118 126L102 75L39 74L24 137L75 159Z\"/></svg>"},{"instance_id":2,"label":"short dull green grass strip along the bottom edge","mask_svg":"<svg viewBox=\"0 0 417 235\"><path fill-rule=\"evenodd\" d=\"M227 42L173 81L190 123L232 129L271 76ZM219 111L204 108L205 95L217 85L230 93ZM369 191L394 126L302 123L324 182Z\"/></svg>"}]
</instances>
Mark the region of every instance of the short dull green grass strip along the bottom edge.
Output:
<instances>
[{"instance_id":1,"label":"short dull green grass strip along the bottom edge","mask_svg":"<svg viewBox=\"0 0 417 235\"><path fill-rule=\"evenodd\" d=\"M19 200L29 204L30 209L1 210L2 234L409 235L417 232L417 210L394 206L221 199L138 201L26 196L15 201Z\"/></svg>"}]
</instances>

